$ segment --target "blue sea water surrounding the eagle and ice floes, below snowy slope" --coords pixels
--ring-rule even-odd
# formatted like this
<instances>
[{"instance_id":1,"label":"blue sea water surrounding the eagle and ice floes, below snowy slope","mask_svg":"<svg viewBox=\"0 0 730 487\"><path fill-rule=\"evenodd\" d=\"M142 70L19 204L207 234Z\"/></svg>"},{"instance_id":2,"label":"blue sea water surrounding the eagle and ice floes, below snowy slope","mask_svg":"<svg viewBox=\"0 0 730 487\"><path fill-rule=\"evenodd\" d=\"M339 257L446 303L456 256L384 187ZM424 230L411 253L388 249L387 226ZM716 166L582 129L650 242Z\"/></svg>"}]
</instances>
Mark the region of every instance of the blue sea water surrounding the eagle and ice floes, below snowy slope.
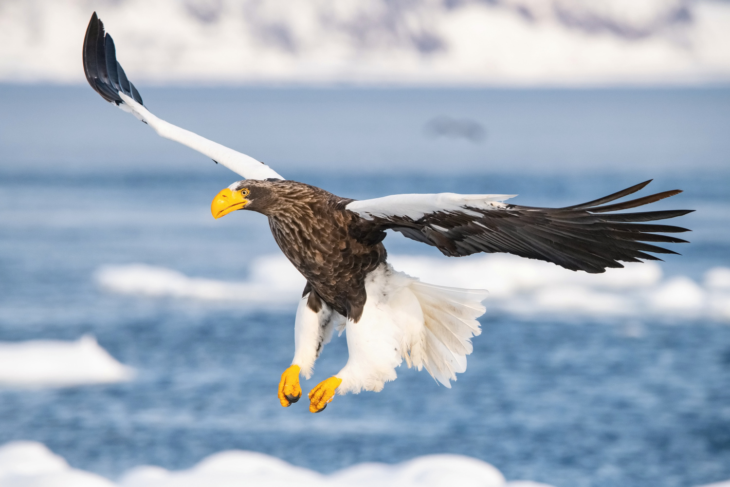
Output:
<instances>
[{"instance_id":1,"label":"blue sea water surrounding the eagle and ice floes, below snowy slope","mask_svg":"<svg viewBox=\"0 0 730 487\"><path fill-rule=\"evenodd\" d=\"M559 206L655 177L656 191L685 190L657 209L698 210L677 221L692 243L672 246L683 256L667 256L664 272L701 280L730 266L728 89L142 96L172 123L341 196L519 193L518 204ZM121 296L93 280L99 266L136 262L245 277L255 257L278 250L261 215L210 217L210 199L236 175L88 87L0 85L0 107L0 340L93 334L139 372L107 386L0 389L0 443L38 440L110 478L229 448L321 472L461 453L558 487L730 478L727 323L640 317L642 332L627 334L615 320L490 315L451 389L399 369L382 392L338 396L318 415L304 401L283 409L292 309ZM439 117L476 123L485 139L426 130ZM398 235L386 244L434 253ZM346 357L333 340L304 387Z\"/></svg>"}]
</instances>

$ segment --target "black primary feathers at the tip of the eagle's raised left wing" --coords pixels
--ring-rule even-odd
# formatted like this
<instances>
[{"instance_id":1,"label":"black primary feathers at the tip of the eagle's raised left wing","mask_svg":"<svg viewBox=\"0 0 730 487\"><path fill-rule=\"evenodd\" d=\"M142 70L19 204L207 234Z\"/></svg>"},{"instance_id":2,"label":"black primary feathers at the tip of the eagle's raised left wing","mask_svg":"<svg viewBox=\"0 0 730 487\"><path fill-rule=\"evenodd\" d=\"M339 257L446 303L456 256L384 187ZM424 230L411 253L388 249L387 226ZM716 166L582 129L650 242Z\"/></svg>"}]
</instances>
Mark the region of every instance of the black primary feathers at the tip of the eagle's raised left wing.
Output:
<instances>
[{"instance_id":1,"label":"black primary feathers at the tip of the eagle's raised left wing","mask_svg":"<svg viewBox=\"0 0 730 487\"><path fill-rule=\"evenodd\" d=\"M139 91L127 79L124 69L118 63L114 41L109 34L104 34L104 23L96 17L96 12L91 15L86 28L83 64L86 80L103 99L115 104L124 103L119 96L121 91L143 104Z\"/></svg>"}]
</instances>

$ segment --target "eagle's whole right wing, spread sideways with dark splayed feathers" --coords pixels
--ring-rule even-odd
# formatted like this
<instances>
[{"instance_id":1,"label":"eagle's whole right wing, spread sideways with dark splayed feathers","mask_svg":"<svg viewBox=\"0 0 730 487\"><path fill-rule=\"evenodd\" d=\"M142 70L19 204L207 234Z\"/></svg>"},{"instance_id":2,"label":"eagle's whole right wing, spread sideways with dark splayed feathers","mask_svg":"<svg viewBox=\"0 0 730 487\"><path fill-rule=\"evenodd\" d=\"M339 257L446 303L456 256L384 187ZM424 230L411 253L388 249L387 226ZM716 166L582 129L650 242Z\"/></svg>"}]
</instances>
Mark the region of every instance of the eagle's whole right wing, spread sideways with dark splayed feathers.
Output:
<instances>
[{"instance_id":1,"label":"eagle's whole right wing, spread sideways with dark splayed feathers","mask_svg":"<svg viewBox=\"0 0 730 487\"><path fill-rule=\"evenodd\" d=\"M356 231L367 236L385 229L434 245L447 256L507 252L553 262L566 269L604 272L618 261L661 260L651 253L676 253L644 242L687 242L654 232L688 231L678 226L645 224L694 210L613 213L639 207L680 190L608 204L651 182L631 186L592 202L564 208L506 204L509 195L399 194L348 203L361 220ZM604 206L602 206L604 205ZM372 238L372 237L371 237Z\"/></svg>"}]
</instances>

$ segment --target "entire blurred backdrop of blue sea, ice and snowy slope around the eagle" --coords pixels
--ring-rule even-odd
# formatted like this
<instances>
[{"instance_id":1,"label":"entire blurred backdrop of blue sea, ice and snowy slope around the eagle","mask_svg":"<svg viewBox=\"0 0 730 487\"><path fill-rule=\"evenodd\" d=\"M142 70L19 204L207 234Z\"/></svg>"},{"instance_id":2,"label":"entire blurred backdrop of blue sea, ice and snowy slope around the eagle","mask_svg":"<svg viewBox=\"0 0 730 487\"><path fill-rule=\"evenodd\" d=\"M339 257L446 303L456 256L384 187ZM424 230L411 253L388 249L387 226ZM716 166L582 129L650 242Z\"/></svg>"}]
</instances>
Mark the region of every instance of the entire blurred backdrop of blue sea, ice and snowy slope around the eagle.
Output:
<instances>
[{"instance_id":1,"label":"entire blurred backdrop of blue sea, ice and snowy slope around the eagle","mask_svg":"<svg viewBox=\"0 0 730 487\"><path fill-rule=\"evenodd\" d=\"M86 84L95 10L150 111L290 179L551 207L653 179L691 243L585 275L389 234L491 291L467 371L283 409L304 281L261 215L210 216L237 175ZM2 0L0 485L728 480L729 134L728 1Z\"/></svg>"}]
</instances>

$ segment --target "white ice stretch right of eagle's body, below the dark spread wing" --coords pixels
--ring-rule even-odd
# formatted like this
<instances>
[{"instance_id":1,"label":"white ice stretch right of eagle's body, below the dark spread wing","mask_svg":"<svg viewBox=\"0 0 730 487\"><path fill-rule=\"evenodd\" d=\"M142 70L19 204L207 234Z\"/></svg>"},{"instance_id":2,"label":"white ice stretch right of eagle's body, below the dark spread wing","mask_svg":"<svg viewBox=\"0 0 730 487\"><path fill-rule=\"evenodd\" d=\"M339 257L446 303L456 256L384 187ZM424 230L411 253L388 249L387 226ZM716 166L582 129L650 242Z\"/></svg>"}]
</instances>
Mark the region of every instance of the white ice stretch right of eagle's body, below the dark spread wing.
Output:
<instances>
[{"instance_id":1,"label":"white ice stretch right of eagle's body, below the dark spread wing","mask_svg":"<svg viewBox=\"0 0 730 487\"><path fill-rule=\"evenodd\" d=\"M664 278L651 261L602 274L504 254L460 261L393 256L391 262L425 282L488 289L488 309L515 315L730 320L730 269L723 267L710 269L700 285L686 276Z\"/></svg>"}]
</instances>

